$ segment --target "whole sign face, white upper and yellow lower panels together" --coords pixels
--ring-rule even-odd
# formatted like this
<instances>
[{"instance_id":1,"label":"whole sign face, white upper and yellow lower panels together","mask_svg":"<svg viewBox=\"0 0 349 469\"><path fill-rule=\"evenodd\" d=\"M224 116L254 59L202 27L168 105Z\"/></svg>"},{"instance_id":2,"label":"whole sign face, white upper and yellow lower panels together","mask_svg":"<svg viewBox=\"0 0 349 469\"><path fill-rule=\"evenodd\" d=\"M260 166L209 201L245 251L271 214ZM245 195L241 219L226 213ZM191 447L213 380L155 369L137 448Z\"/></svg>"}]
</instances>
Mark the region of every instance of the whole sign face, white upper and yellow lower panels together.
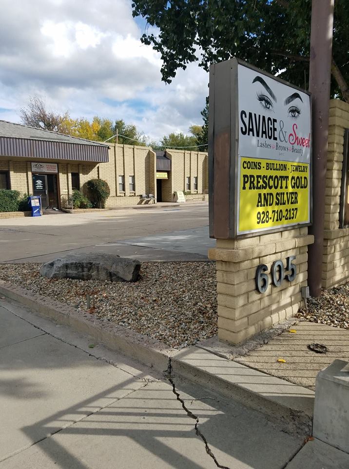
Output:
<instances>
[{"instance_id":1,"label":"whole sign face, white upper and yellow lower panels together","mask_svg":"<svg viewBox=\"0 0 349 469\"><path fill-rule=\"evenodd\" d=\"M238 64L237 234L310 223L310 95Z\"/></svg>"}]
</instances>

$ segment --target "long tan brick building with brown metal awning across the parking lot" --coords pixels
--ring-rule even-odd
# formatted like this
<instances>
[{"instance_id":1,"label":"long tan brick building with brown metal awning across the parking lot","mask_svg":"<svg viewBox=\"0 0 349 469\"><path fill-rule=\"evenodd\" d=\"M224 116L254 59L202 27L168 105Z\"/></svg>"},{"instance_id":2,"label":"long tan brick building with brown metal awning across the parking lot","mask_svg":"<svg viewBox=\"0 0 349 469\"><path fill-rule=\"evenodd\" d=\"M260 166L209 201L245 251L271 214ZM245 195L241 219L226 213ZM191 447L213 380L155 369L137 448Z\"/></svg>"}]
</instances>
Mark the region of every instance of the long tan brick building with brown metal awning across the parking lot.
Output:
<instances>
[{"instance_id":1,"label":"long tan brick building with brown metal awning across the parking lot","mask_svg":"<svg viewBox=\"0 0 349 469\"><path fill-rule=\"evenodd\" d=\"M174 192L189 199L208 192L207 153L103 144L0 121L0 189L41 195L43 208L63 208L75 189L85 183L107 181L107 207L142 203L153 194L164 202Z\"/></svg>"}]
</instances>

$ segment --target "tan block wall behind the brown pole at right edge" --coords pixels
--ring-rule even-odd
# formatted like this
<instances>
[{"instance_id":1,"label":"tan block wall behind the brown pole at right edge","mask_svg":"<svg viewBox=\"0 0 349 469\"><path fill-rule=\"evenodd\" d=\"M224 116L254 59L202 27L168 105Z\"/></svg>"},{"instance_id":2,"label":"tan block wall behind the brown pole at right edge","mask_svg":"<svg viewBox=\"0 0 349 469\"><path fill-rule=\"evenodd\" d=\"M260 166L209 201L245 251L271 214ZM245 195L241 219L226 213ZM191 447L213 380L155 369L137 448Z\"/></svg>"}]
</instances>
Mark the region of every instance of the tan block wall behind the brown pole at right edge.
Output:
<instances>
[{"instance_id":1,"label":"tan block wall behind the brown pole at right edge","mask_svg":"<svg viewBox=\"0 0 349 469\"><path fill-rule=\"evenodd\" d=\"M330 100L322 263L323 288L331 288L349 280L349 228L339 228L345 128L349 128L349 104L337 99Z\"/></svg>"}]
</instances>

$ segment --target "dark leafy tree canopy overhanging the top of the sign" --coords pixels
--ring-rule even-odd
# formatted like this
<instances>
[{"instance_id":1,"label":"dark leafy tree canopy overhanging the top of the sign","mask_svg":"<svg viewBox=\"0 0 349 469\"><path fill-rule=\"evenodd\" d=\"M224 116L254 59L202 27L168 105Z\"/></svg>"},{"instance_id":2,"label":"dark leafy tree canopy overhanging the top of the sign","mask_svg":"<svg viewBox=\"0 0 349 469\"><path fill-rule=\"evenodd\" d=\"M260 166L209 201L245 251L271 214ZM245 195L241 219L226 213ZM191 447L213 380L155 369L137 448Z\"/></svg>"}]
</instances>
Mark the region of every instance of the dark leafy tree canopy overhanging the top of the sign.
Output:
<instances>
[{"instance_id":1,"label":"dark leafy tree canopy overhanging the top of the sign","mask_svg":"<svg viewBox=\"0 0 349 469\"><path fill-rule=\"evenodd\" d=\"M331 96L349 102L347 3L334 2ZM133 0L132 6L134 17L160 30L141 41L161 54L166 83L191 62L208 70L210 63L239 57L308 87L311 0Z\"/></svg>"}]
</instances>

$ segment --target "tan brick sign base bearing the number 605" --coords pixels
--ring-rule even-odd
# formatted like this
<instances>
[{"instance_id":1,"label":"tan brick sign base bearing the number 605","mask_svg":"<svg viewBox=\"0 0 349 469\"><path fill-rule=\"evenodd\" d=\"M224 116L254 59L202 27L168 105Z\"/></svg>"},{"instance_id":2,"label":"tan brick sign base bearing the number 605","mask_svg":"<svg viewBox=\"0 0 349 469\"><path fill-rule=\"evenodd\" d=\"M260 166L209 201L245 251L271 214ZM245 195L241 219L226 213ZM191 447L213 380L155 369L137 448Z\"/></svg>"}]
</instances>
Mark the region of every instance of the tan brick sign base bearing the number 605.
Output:
<instances>
[{"instance_id":1,"label":"tan brick sign base bearing the number 605","mask_svg":"<svg viewBox=\"0 0 349 469\"><path fill-rule=\"evenodd\" d=\"M308 279L308 245L313 243L308 228L296 228L269 235L233 240L217 239L216 248L209 250L209 258L216 260L218 338L240 343L283 321L298 311L301 287ZM286 258L297 266L297 275L281 286L271 282L270 270L275 260L281 260L287 274ZM265 293L255 287L258 265L269 268L269 286Z\"/></svg>"}]
</instances>

